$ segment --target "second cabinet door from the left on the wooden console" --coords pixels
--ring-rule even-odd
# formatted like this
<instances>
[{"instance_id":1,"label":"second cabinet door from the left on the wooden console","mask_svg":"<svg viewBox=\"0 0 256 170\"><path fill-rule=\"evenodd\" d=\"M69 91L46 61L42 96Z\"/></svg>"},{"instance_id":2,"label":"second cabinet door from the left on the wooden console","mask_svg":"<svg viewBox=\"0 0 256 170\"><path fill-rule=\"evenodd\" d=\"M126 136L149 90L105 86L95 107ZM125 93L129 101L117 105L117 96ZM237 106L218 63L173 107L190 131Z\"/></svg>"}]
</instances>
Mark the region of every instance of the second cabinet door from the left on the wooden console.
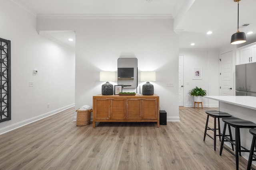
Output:
<instances>
[{"instance_id":1,"label":"second cabinet door from the left on the wooden console","mask_svg":"<svg viewBox=\"0 0 256 170\"><path fill-rule=\"evenodd\" d=\"M110 117L113 120L124 120L126 115L126 99L111 100Z\"/></svg>"}]
</instances>

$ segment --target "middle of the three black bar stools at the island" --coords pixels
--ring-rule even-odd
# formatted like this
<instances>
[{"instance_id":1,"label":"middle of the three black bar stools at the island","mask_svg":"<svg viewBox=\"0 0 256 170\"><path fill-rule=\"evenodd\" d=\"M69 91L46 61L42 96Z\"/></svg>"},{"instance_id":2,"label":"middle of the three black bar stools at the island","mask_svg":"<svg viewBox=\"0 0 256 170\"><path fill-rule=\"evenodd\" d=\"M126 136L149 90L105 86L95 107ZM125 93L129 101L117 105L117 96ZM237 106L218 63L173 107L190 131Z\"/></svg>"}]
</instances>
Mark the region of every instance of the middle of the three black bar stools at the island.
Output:
<instances>
[{"instance_id":1,"label":"middle of the three black bar stools at the island","mask_svg":"<svg viewBox=\"0 0 256 170\"><path fill-rule=\"evenodd\" d=\"M241 152L250 152L250 150L241 146L241 143L240 143L240 128L255 128L256 124L252 123L251 121L246 121L246 120L239 119L239 118L236 118L236 117L223 118L222 121L224 122L224 129L223 129L222 139L221 139L221 144L220 144L220 155L222 154L222 149L224 148L228 152L230 152L232 155L236 156L236 170L238 170L238 166L239 166L239 156L238 156L238 154L241 156ZM236 136L235 141L226 137L225 133L226 133L226 126L227 125L230 125L230 126L235 128L235 136ZM231 152L231 150L229 150L227 147L224 146L224 140L225 139L226 139L226 141L230 142L231 145L236 146L236 154L234 154L233 152ZM241 148L244 149L244 150L242 150Z\"/></svg>"}]
</instances>

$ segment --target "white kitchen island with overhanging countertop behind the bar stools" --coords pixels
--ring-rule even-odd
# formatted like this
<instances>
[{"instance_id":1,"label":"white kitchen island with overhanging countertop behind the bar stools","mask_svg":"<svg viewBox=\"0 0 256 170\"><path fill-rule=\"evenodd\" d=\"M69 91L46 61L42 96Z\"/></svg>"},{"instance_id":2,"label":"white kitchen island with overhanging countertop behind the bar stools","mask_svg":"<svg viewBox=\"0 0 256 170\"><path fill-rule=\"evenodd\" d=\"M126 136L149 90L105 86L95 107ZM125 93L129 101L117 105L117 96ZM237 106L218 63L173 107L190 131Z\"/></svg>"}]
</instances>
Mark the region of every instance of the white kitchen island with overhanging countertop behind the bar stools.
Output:
<instances>
[{"instance_id":1,"label":"white kitchen island with overhanging countertop behind the bar stools","mask_svg":"<svg viewBox=\"0 0 256 170\"><path fill-rule=\"evenodd\" d=\"M256 123L256 97L253 96L204 96L211 100L219 101L219 110L229 113L233 117L252 121ZM223 131L224 123L220 121L221 132ZM234 128L231 127L232 136L235 138ZM226 131L227 133L228 131ZM241 128L241 145L250 150L252 143L252 134L249 133L249 129ZM225 142L230 146L230 143ZM226 150L223 150L225 152ZM249 153L242 152L242 156L248 160ZM255 163L253 162L255 165Z\"/></svg>"}]
</instances>

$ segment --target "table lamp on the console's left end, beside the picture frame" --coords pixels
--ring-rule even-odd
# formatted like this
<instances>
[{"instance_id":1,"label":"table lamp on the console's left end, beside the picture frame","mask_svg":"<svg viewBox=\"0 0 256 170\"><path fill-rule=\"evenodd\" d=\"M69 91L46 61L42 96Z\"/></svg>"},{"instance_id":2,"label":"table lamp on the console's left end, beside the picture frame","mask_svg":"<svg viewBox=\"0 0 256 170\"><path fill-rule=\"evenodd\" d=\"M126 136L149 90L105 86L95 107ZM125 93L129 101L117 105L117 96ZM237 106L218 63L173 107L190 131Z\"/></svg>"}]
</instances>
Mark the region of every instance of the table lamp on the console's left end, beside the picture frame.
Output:
<instances>
[{"instance_id":1,"label":"table lamp on the console's left end, beside the picture frame","mask_svg":"<svg viewBox=\"0 0 256 170\"><path fill-rule=\"evenodd\" d=\"M112 95L114 94L114 87L109 82L116 81L116 72L113 71L100 71L100 82L106 82L102 84L101 94Z\"/></svg>"}]
</instances>

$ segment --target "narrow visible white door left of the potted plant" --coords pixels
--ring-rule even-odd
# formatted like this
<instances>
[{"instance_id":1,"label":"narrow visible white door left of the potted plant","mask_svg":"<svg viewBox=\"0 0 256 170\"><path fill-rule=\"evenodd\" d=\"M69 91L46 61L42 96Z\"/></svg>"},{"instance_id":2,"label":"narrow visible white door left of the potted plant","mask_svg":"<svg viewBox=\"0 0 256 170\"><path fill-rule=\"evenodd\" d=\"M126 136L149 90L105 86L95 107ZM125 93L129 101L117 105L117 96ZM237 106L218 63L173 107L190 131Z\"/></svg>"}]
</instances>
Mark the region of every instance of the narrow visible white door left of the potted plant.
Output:
<instances>
[{"instance_id":1,"label":"narrow visible white door left of the potted plant","mask_svg":"<svg viewBox=\"0 0 256 170\"><path fill-rule=\"evenodd\" d=\"M184 106L183 60L184 55L179 55L179 106Z\"/></svg>"}]
</instances>

